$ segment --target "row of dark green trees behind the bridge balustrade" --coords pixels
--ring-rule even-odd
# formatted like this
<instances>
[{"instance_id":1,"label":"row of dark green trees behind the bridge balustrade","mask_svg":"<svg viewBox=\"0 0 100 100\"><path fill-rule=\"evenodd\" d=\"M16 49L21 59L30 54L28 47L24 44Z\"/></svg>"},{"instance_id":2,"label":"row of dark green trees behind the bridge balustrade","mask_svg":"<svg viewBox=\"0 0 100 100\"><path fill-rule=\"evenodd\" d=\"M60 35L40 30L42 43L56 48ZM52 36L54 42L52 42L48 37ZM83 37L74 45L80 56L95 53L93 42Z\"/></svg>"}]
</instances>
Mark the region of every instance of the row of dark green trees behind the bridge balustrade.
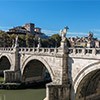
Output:
<instances>
[{"instance_id":1,"label":"row of dark green trees behind the bridge balustrade","mask_svg":"<svg viewBox=\"0 0 100 100\"><path fill-rule=\"evenodd\" d=\"M15 43L15 38L18 35L18 43L20 47L37 47L38 37L32 34L8 34L4 31L0 31L0 47L12 47ZM59 47L61 42L61 36L59 34L54 34L49 38L41 39L42 47ZM66 40L67 45L70 46L68 40Z\"/></svg>"}]
</instances>

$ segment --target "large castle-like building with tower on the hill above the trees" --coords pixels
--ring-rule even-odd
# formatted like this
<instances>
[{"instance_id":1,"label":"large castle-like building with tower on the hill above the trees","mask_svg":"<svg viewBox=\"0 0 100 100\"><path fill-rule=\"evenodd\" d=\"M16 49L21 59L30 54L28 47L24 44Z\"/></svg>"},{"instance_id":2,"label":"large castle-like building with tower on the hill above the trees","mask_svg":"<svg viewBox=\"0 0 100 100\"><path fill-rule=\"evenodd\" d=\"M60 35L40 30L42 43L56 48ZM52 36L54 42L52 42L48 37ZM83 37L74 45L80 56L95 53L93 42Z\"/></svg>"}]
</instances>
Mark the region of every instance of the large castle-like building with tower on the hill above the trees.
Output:
<instances>
[{"instance_id":1,"label":"large castle-like building with tower on the hill above the trees","mask_svg":"<svg viewBox=\"0 0 100 100\"><path fill-rule=\"evenodd\" d=\"M47 38L47 36L41 32L41 28L35 27L33 23L27 23L23 26L17 26L9 29L8 34L33 34L36 37Z\"/></svg>"}]
</instances>

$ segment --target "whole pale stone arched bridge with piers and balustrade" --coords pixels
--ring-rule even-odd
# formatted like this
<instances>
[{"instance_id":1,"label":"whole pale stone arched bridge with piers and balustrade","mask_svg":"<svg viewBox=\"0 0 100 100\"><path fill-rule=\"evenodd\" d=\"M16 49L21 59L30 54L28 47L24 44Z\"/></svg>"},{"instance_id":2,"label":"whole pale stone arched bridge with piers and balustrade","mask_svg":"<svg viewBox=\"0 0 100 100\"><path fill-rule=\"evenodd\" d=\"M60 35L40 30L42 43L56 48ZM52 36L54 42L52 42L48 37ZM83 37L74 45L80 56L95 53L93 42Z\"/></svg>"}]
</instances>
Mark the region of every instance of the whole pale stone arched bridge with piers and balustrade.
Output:
<instances>
[{"instance_id":1,"label":"whole pale stone arched bridge with piers and balustrade","mask_svg":"<svg viewBox=\"0 0 100 100\"><path fill-rule=\"evenodd\" d=\"M45 79L45 100L99 100L100 48L68 48L64 37L58 48L0 48L0 73L5 83Z\"/></svg>"}]
</instances>

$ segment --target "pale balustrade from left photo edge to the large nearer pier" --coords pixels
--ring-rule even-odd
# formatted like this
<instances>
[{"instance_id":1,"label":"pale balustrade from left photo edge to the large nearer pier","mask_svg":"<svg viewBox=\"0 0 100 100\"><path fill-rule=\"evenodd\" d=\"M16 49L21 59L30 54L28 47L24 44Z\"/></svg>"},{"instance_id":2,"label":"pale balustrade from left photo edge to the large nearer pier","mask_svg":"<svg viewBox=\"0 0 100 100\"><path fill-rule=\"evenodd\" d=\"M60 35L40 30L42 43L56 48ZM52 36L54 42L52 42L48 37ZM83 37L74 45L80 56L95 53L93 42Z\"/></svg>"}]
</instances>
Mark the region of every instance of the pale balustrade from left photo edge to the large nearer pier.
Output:
<instances>
[{"instance_id":1,"label":"pale balustrade from left photo edge to the large nearer pier","mask_svg":"<svg viewBox=\"0 0 100 100\"><path fill-rule=\"evenodd\" d=\"M14 53L17 50L20 54L42 54L42 55L62 55L62 48L33 48L33 47L1 47L0 53Z\"/></svg>"}]
</instances>

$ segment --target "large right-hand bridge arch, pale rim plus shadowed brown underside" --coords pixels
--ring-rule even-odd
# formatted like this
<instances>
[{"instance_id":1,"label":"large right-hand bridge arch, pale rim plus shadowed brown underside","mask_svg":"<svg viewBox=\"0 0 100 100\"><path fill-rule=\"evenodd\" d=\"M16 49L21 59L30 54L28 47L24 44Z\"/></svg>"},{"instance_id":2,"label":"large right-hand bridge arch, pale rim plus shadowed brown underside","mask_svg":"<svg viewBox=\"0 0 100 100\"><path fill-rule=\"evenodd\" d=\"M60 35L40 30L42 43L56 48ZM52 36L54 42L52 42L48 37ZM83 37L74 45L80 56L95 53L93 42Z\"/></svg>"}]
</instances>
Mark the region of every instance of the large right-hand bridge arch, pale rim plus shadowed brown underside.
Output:
<instances>
[{"instance_id":1,"label":"large right-hand bridge arch, pale rim plus shadowed brown underside","mask_svg":"<svg viewBox=\"0 0 100 100\"><path fill-rule=\"evenodd\" d=\"M84 69L82 69L79 72L76 79L74 80L74 90L76 97L75 100L81 100L81 98L86 99L95 95L96 97L98 97L98 95L100 95L100 93L98 94L97 92L97 88L99 85L100 85L100 62L96 62L90 64L89 66L84 67Z\"/></svg>"}]
</instances>

